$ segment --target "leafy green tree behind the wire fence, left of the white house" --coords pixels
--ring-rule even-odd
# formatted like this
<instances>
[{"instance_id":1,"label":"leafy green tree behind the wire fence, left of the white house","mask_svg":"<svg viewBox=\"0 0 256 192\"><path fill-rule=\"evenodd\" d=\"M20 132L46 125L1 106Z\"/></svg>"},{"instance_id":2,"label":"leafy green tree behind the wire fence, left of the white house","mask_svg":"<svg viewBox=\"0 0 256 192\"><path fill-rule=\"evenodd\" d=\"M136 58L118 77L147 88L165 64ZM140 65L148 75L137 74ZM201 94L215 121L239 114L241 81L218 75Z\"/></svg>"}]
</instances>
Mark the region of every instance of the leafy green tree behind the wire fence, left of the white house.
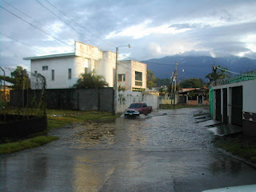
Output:
<instances>
[{"instance_id":1,"label":"leafy green tree behind the wire fence, left of the white house","mask_svg":"<svg viewBox=\"0 0 256 192\"><path fill-rule=\"evenodd\" d=\"M9 81L14 83L14 89L15 90L22 90L22 89L28 89L30 88L30 77L27 73L26 69L23 69L22 66L17 66L16 70L14 72L10 73L11 78Z\"/></svg>"}]
</instances>

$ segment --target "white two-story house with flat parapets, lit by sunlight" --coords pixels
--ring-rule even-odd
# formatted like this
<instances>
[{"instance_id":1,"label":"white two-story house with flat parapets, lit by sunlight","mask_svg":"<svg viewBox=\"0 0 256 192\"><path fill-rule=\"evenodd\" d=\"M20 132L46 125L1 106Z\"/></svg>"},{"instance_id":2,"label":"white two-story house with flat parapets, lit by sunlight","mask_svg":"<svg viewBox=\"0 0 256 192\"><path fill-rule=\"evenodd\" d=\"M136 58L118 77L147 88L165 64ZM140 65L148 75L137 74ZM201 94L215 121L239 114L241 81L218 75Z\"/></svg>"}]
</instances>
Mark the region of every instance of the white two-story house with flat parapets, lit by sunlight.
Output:
<instances>
[{"instance_id":1,"label":"white two-story house with flat parapets, lit by sunlight","mask_svg":"<svg viewBox=\"0 0 256 192\"><path fill-rule=\"evenodd\" d=\"M99 50L96 46L75 42L74 53L52 54L24 58L31 61L31 72L46 78L47 89L72 88L80 74L93 72L102 75L110 87L114 86L116 54ZM118 61L118 86L126 90L146 90L146 64Z\"/></svg>"}]
</instances>

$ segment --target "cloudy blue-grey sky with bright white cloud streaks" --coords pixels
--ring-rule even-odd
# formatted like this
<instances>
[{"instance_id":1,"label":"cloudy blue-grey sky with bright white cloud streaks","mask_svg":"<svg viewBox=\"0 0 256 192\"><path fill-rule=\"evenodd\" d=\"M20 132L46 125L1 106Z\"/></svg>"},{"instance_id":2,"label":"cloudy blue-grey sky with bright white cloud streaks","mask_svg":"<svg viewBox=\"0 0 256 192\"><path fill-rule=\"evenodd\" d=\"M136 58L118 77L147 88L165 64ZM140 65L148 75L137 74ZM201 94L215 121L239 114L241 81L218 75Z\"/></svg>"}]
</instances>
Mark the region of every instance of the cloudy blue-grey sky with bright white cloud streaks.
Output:
<instances>
[{"instance_id":1,"label":"cloudy blue-grey sky with bright white cloud streaks","mask_svg":"<svg viewBox=\"0 0 256 192\"><path fill-rule=\"evenodd\" d=\"M0 66L74 52L74 41L145 60L256 58L255 0L0 0Z\"/></svg>"}]
</instances>

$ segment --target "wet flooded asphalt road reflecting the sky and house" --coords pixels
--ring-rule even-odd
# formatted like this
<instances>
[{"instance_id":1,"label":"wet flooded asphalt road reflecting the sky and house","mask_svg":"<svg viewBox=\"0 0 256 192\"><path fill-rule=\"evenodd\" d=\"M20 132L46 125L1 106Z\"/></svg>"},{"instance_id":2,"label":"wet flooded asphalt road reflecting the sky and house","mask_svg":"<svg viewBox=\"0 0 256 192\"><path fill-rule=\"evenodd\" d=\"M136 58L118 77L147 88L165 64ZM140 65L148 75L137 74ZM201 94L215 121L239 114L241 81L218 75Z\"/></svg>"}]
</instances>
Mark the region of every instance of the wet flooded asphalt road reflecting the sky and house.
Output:
<instances>
[{"instance_id":1,"label":"wet flooded asphalt road reflecting the sky and house","mask_svg":"<svg viewBox=\"0 0 256 192\"><path fill-rule=\"evenodd\" d=\"M184 191L256 183L194 122L201 110L90 122L53 130L58 141L0 157L0 191ZM166 115L164 115L166 113Z\"/></svg>"}]
</instances>

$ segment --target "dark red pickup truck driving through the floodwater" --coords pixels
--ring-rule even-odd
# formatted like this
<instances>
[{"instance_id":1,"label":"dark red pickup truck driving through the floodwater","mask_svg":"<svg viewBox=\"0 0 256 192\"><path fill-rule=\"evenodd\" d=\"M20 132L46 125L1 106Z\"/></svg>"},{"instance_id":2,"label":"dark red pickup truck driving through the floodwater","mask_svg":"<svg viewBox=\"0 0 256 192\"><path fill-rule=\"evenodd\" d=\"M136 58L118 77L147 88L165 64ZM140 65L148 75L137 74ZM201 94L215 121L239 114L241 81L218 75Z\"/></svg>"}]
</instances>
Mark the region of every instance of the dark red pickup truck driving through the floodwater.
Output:
<instances>
[{"instance_id":1,"label":"dark red pickup truck driving through the floodwater","mask_svg":"<svg viewBox=\"0 0 256 192\"><path fill-rule=\"evenodd\" d=\"M125 116L139 116L139 114L150 114L152 106L147 106L145 102L134 102L125 110Z\"/></svg>"}]
</instances>

